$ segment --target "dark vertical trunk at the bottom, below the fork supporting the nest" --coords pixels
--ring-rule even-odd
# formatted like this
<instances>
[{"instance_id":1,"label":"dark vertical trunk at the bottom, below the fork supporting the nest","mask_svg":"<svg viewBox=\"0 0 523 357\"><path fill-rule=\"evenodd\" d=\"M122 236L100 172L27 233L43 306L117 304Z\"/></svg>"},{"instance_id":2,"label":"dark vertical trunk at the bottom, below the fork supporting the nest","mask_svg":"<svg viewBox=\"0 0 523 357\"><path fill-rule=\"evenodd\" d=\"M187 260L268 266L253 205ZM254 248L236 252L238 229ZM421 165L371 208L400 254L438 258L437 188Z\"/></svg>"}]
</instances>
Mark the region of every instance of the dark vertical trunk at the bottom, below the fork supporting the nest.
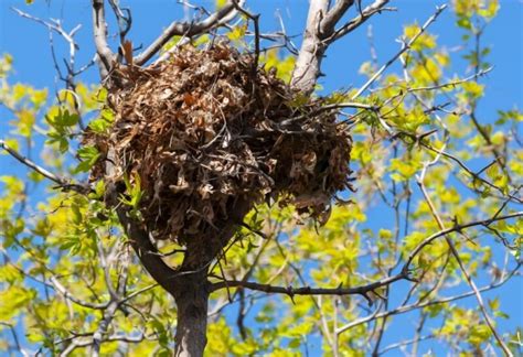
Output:
<instances>
[{"instance_id":1,"label":"dark vertical trunk at the bottom, below the fork supporting the nest","mask_svg":"<svg viewBox=\"0 0 523 357\"><path fill-rule=\"evenodd\" d=\"M180 277L174 295L178 310L174 356L203 356L207 343L209 284L206 271Z\"/></svg>"}]
</instances>

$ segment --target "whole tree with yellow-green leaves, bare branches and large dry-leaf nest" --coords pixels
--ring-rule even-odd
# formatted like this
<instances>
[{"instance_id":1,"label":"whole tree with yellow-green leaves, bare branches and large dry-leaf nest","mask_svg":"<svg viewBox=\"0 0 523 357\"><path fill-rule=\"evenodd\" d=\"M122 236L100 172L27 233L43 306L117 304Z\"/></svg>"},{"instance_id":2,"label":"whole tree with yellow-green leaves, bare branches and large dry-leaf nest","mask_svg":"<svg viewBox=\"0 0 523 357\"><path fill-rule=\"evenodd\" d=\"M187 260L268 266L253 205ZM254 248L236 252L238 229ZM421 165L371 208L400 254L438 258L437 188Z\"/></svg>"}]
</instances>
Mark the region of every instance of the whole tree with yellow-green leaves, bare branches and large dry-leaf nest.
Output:
<instances>
[{"instance_id":1,"label":"whole tree with yellow-green leaves, bare branches and large dry-leaf nest","mask_svg":"<svg viewBox=\"0 0 523 357\"><path fill-rule=\"evenodd\" d=\"M499 321L511 317L500 299L483 296L520 274L523 223L523 116L501 108L487 120L479 106L492 71L481 40L498 2L452 3L469 73L455 75L450 63L457 56L429 32L445 14L442 6L423 24L404 28L391 58L362 64L363 85L329 94L318 86L329 46L386 15L388 1L311 0L299 50L285 30L264 32L263 17L248 6L217 1L209 12L183 2L193 20L174 21L152 43L137 46L129 32L132 7L93 0L96 54L83 66L76 64L79 26L65 30L61 21L30 14L31 8L14 10L49 30L62 87L53 99L47 89L12 84L13 60L3 56L2 121L14 120L0 145L26 172L1 177L0 348L95 356L201 356L204 349L210 356L377 356L395 348L417 355L421 343L438 339L453 353L521 353L519 331L499 331ZM56 34L68 46L64 62ZM220 67L224 63L230 67ZM220 75L198 87L213 66ZM83 84L93 67L99 83ZM166 74L173 82L162 82ZM201 90L177 89L182 80ZM171 140L164 154L162 130L170 129L161 128L140 147L136 138L152 132L143 122L152 126L152 118L173 112L171 122L192 118L214 86L222 86L222 97L218 105L206 104L209 111L228 110L228 101L246 96L239 105L269 128L227 128L236 121L226 111L220 126L205 127L206 119L198 118L184 123L188 132L200 128L196 148L183 151ZM181 97L167 101L158 88L170 90L168 97L181 90ZM242 112L239 105L233 108ZM140 117L143 108L151 115ZM153 117L156 110L161 116ZM188 144L183 132L167 132ZM260 165L250 150L262 140L256 136L265 140L258 148L264 156L279 150L276 158L287 164ZM233 152L239 148L228 144L234 140L256 160ZM290 143L281 150L281 142ZM243 171L227 177L237 183L253 176L238 183L250 191L223 198L211 181L188 191L191 176L181 172L194 170L192 177L200 177L196 172L211 172L201 169L211 163L199 159L189 169L193 159L185 153L215 143L225 152L216 165L235 161ZM167 166L146 173L146 156L175 167L174 184L167 185L172 196L161 191ZM341 186L331 183L339 181L355 192L333 192ZM161 204L168 196L178 201ZM195 220L214 197L224 212L214 206ZM375 205L388 217L372 215ZM183 218L178 225L177 217ZM396 322L404 314L416 318L412 337L385 345L388 328L405 328Z\"/></svg>"}]
</instances>

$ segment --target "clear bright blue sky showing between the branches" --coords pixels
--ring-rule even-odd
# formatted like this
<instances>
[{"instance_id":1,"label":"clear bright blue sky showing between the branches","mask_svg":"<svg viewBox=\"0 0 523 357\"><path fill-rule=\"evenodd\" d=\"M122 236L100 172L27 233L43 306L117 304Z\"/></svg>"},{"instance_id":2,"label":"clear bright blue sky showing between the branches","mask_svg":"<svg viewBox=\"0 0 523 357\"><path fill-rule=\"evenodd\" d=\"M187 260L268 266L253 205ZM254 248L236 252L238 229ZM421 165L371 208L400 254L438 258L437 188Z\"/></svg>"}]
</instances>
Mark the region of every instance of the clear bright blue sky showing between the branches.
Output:
<instances>
[{"instance_id":1,"label":"clear bright blue sky showing between the branches","mask_svg":"<svg viewBox=\"0 0 523 357\"><path fill-rule=\"evenodd\" d=\"M87 63L94 54L94 44L90 35L90 7L87 0L65 1L35 0L33 6L25 6L24 0L0 0L0 53L10 53L14 58L14 75L11 82L29 83L36 88L55 87L55 72L52 63L49 34L40 24L17 15L10 8L18 7L42 19L63 19L63 26L71 30L76 24L83 24L76 40L81 45L78 50L77 66ZM150 43L159 32L173 19L182 18L182 8L174 0L134 0L121 1L129 3L134 13L134 25L128 37L132 39L135 45ZM207 1L212 8L213 1ZM288 34L299 35L305 20L308 2L306 0L250 0L248 1L254 12L262 13L263 31L279 30L279 21L276 12L279 11L285 22ZM397 7L398 11L384 12L376 15L369 23L373 25L374 44L377 50L378 62L387 61L398 48L395 40L402 34L403 25L417 21L423 23L433 12L437 4L444 1L433 0L399 0L392 1L391 6ZM353 15L354 10L349 15ZM430 28L431 33L438 34L438 43L444 44L451 51L461 44L461 34L453 25L453 15L447 10L440 19ZM366 39L367 26L349 34L343 40L331 46L327 53L323 72L325 77L320 80L325 91L351 86L360 86L365 78L357 74L360 65L370 58L370 47ZM60 36L55 37L57 52L63 53L66 47ZM297 39L299 43L299 37ZM488 28L483 43L492 46L489 62L494 69L483 83L487 84L487 95L481 101L479 113L483 122L493 121L498 109L511 109L523 107L523 3L517 0L501 0L499 15ZM456 58L456 57L455 57ZM465 62L453 64L452 71L466 73ZM86 83L97 83L98 73L96 68L88 71L82 78ZM61 85L61 84L58 84ZM7 116L0 109L0 115ZM11 119L11 118L8 118ZM0 137L7 134L6 118L0 119ZM13 165L12 159L0 156L0 175L15 173L19 169ZM376 216L380 216L376 208ZM374 220L377 225L386 225L385 220ZM522 325L523 312L521 301L523 299L521 280L515 280L502 290L502 307L509 311L512 318L508 322L501 321L501 332ZM489 294L485 294L489 296ZM490 294L492 296L493 294ZM468 303L473 304L473 300ZM408 317L402 317L396 328L410 327ZM399 331L399 329L398 329ZM384 345L401 336L398 331L391 331L385 336Z\"/></svg>"}]
</instances>

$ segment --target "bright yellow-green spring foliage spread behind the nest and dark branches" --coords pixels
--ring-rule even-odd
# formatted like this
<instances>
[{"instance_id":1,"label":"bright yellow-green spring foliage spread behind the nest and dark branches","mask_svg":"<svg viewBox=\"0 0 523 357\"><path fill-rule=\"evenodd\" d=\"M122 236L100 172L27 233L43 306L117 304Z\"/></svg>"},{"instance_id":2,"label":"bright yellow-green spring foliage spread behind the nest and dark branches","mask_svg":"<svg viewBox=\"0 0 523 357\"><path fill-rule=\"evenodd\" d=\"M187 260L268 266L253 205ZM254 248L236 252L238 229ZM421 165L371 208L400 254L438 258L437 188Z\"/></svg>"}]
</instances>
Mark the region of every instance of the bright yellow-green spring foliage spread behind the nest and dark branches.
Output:
<instances>
[{"instance_id":1,"label":"bright yellow-green spring foliage spread behind the nest and dark branches","mask_svg":"<svg viewBox=\"0 0 523 357\"><path fill-rule=\"evenodd\" d=\"M216 7L224 3L216 1ZM478 48L476 41L498 8L497 1L453 1L457 26L463 33L463 58L473 73L490 66L485 62L489 47ZM246 30L242 22L227 36L238 47L247 47ZM418 31L418 24L406 25L404 40ZM180 40L173 39L163 51ZM195 40L199 44L207 41L209 36ZM517 108L500 108L497 118L474 123L480 116L478 102L487 99L489 84L479 77L461 80L451 69L455 57L438 44L436 34L423 34L402 56L403 68L384 76L372 94L357 99L378 109L353 110L344 118L352 122L354 138L351 165L356 171L357 192L351 194L353 202L333 205L323 227L300 220L277 203L260 204L245 218L225 257L211 266L211 280L227 277L278 286L361 286L395 273L419 245L441 231L441 225L450 228L513 212L515 204L508 202L522 183L523 152L511 130L521 126L523 115ZM293 56L269 50L259 61L267 71L275 68L279 78L290 80ZM104 107L107 93L77 84L75 93L60 91L52 101L46 89L10 83L12 65L9 55L0 60L0 102L10 112L0 119L9 127L6 143L58 175L85 180L104 153L93 144L82 145L78 134L86 117L93 118L89 130L109 133L115 113ZM366 77L375 71L372 62L360 68ZM354 93L333 93L328 104L350 101ZM451 102L452 110L434 109L441 97ZM297 96L292 105L299 108L306 99ZM41 139L46 139L43 145ZM479 169L469 169L469 163ZM175 306L138 263L116 213L106 208L105 183L92 183L88 195L51 190L54 185L34 172L0 176L0 339L4 340L0 354L9 354L13 345L9 326L23 331L26 342L42 354L58 355L73 339L90 340L118 290L127 300L104 334L102 355L125 349L132 356L169 356ZM138 220L141 185L139 175L126 175L119 196ZM33 190L45 194L32 196ZM446 237L455 244L469 274L487 281L488 289L506 279L506 267L521 263L521 218ZM180 255L169 252L183 247L156 244L167 263L180 263ZM506 267L494 250L506 253ZM364 356L372 353L369 346L374 347L381 326L386 334L399 314L427 322L423 332L438 338L450 354L474 355L495 346L480 309L449 299L459 295L457 290L470 289L445 237L424 246L408 268L413 280L404 284L408 293L394 291L395 285L377 288L365 296L216 291L211 295L205 354L299 356L321 350L333 355L338 349L339 355ZM389 299L392 294L406 296L398 303ZM513 318L499 298L484 300L498 323ZM517 340L520 334L509 332L503 338ZM137 342L126 343L124 336ZM76 349L75 354L87 355L88 350Z\"/></svg>"}]
</instances>

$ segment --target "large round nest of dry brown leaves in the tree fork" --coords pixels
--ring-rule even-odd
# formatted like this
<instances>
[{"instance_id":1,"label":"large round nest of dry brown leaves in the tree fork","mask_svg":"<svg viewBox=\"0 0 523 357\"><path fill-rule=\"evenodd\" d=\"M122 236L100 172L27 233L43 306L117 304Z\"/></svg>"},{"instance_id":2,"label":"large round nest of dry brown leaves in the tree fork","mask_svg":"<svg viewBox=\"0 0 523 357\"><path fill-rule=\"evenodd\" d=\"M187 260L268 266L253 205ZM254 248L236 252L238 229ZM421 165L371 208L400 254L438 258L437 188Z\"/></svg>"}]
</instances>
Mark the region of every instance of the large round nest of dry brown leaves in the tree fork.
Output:
<instances>
[{"instance_id":1,"label":"large round nest of dry brown leaves in the tree fork","mask_svg":"<svg viewBox=\"0 0 523 357\"><path fill-rule=\"evenodd\" d=\"M139 209L156 239L186 244L237 225L239 201L291 204L323 223L335 193L351 188L348 128L252 55L226 43L184 45L154 67L117 71L110 133L85 136L111 152L116 170L108 176L99 161L92 176L139 176Z\"/></svg>"}]
</instances>

